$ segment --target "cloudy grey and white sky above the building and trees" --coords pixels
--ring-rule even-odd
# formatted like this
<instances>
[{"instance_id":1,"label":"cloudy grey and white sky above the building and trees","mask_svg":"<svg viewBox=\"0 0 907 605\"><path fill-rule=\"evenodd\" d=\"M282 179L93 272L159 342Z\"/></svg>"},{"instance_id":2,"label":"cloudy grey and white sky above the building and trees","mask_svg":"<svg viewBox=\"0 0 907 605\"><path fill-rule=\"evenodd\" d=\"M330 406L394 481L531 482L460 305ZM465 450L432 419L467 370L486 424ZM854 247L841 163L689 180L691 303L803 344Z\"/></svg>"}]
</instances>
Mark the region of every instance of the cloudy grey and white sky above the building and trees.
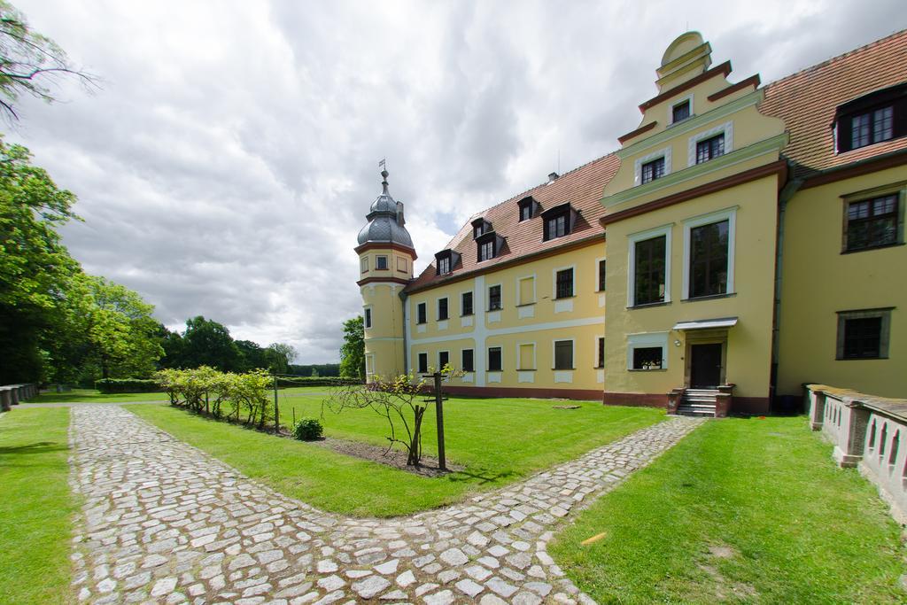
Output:
<instances>
[{"instance_id":1,"label":"cloudy grey and white sky above the building and trees","mask_svg":"<svg viewBox=\"0 0 907 605\"><path fill-rule=\"evenodd\" d=\"M406 203L417 269L478 210L613 151L696 29L764 83L907 26L902 0L14 0L102 78L5 129L79 197L64 241L169 327L336 361L356 232Z\"/></svg>"}]
</instances>

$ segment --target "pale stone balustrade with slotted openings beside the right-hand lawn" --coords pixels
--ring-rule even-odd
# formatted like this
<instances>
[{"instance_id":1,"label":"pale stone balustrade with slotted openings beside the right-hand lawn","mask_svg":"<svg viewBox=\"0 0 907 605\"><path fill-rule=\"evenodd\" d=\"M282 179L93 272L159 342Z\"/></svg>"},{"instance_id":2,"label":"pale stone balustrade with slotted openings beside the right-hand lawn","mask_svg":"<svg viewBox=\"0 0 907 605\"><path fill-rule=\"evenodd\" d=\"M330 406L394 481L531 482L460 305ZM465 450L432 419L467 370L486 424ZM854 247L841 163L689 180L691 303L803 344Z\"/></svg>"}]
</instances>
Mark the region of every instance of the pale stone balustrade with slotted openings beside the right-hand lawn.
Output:
<instances>
[{"instance_id":1,"label":"pale stone balustrade with slotted openings beside the right-hand lawn","mask_svg":"<svg viewBox=\"0 0 907 605\"><path fill-rule=\"evenodd\" d=\"M834 460L857 467L907 524L907 399L805 385L810 424L834 444Z\"/></svg>"}]
</instances>

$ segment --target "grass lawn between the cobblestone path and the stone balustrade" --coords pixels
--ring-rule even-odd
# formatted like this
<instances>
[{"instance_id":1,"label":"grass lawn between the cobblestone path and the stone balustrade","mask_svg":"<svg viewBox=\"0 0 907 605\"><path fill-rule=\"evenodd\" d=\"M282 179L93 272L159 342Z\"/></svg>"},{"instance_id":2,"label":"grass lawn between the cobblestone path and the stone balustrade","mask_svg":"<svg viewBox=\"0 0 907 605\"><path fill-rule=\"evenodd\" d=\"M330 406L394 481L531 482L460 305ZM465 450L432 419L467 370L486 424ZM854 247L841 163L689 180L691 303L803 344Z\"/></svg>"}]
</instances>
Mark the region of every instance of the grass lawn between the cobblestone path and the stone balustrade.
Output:
<instances>
[{"instance_id":1,"label":"grass lawn between the cobblestone path and the stone balustrade","mask_svg":"<svg viewBox=\"0 0 907 605\"><path fill-rule=\"evenodd\" d=\"M803 417L707 423L581 513L551 554L601 603L904 602L899 528L830 453Z\"/></svg>"}]
</instances>

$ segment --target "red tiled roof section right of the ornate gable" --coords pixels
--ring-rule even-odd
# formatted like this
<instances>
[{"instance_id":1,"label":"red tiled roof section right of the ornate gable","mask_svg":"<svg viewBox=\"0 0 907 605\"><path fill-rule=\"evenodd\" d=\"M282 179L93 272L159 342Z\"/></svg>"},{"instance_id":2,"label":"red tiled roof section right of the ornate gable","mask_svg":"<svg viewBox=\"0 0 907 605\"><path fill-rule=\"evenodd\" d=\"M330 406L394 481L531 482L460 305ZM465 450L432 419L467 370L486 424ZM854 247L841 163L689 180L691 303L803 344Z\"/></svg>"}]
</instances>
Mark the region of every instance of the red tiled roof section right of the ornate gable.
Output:
<instances>
[{"instance_id":1,"label":"red tiled roof section right of the ornate gable","mask_svg":"<svg viewBox=\"0 0 907 605\"><path fill-rule=\"evenodd\" d=\"M845 153L834 150L834 111L866 93L907 81L907 30L889 35L766 85L759 110L785 121L790 144L784 154L794 175L818 171L907 148L907 138Z\"/></svg>"}]
</instances>

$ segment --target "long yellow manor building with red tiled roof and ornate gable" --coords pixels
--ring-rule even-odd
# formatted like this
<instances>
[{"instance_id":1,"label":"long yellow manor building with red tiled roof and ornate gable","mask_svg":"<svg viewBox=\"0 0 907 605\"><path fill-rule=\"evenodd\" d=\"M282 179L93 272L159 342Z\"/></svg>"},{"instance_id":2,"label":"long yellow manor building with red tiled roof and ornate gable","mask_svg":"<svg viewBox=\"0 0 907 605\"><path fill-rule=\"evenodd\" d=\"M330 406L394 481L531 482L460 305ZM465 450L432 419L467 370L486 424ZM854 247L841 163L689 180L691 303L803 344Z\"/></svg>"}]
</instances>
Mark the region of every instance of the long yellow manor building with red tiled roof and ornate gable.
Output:
<instances>
[{"instance_id":1,"label":"long yellow manor building with red tiled roof and ornate gable","mask_svg":"<svg viewBox=\"0 0 907 605\"><path fill-rule=\"evenodd\" d=\"M656 73L619 151L474 216L417 278L363 265L369 372L709 415L807 381L907 395L907 32L764 87L691 32ZM356 250L411 270L405 239Z\"/></svg>"}]
</instances>

